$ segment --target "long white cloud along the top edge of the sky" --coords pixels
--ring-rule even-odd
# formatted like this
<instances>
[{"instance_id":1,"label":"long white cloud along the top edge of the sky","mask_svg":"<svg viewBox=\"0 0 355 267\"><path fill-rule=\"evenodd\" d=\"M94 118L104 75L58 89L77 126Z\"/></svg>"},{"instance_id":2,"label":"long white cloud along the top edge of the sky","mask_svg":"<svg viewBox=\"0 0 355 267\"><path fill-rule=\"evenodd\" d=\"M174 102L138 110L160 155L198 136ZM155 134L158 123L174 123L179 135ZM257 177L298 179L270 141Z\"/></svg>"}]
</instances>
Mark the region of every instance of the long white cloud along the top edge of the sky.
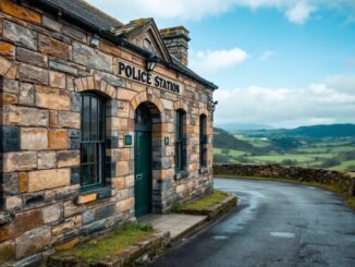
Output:
<instances>
[{"instance_id":1,"label":"long white cloud along the top edge of the sky","mask_svg":"<svg viewBox=\"0 0 355 267\"><path fill-rule=\"evenodd\" d=\"M124 23L137 17L199 20L238 7L273 8L292 23L303 24L317 8L342 10L348 21L355 17L354 0L88 0Z\"/></svg>"}]
</instances>

